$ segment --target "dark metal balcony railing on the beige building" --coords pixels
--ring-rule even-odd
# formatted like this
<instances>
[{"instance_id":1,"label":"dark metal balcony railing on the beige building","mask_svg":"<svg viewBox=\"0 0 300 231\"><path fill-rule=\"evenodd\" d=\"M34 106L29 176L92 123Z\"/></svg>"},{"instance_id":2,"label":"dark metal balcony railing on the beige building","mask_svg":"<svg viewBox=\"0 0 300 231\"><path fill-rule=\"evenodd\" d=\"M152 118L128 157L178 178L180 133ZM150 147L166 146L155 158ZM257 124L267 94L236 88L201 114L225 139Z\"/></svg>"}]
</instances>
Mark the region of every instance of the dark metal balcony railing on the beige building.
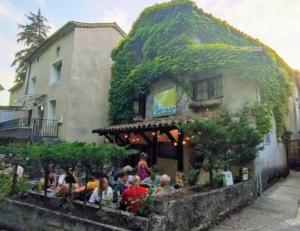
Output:
<instances>
[{"instance_id":1,"label":"dark metal balcony railing on the beige building","mask_svg":"<svg viewBox=\"0 0 300 231\"><path fill-rule=\"evenodd\" d=\"M19 118L0 123L1 133L12 130L14 133L29 130L31 137L57 137L58 135L57 120L48 119Z\"/></svg>"}]
</instances>

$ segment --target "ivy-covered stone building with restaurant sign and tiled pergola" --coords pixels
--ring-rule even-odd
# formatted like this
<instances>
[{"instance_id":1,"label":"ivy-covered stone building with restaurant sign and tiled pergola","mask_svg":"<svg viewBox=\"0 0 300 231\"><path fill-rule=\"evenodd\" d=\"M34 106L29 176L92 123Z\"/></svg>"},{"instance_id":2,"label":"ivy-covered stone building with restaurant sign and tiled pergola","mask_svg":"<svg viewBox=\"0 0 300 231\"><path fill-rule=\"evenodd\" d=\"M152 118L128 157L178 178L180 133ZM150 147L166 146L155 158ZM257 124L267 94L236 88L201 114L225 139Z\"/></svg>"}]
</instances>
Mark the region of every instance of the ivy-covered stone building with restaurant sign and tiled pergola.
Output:
<instances>
[{"instance_id":1,"label":"ivy-covered stone building with restaurant sign and tiled pergola","mask_svg":"<svg viewBox=\"0 0 300 231\"><path fill-rule=\"evenodd\" d=\"M127 62L120 58L126 54ZM220 108L234 112L245 103L271 100L272 94L277 97L276 90L266 90L260 84L263 79L270 81L271 87L272 73L285 82L285 128L298 137L296 124L300 120L295 99L299 92L293 70L272 49L206 14L191 1L170 1L147 8L114 51L113 59L113 125L93 132L110 142L147 151L150 165L172 177L177 170L188 172L191 161L180 123L206 119ZM288 96L290 89L294 93ZM285 102L280 103L285 107ZM285 145L277 138L276 127L273 118L272 130L265 135L265 148L252 169L259 189L268 187L270 179L288 167Z\"/></svg>"}]
</instances>

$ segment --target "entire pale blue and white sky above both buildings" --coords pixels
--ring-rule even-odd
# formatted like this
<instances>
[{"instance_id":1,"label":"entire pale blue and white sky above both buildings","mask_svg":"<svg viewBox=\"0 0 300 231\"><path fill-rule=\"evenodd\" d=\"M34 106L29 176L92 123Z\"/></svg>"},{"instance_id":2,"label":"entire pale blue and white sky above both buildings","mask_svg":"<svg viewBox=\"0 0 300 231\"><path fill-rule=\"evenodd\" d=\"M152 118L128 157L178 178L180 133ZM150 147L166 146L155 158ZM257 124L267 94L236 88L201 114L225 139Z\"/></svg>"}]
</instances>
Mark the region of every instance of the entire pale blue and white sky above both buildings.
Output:
<instances>
[{"instance_id":1,"label":"entire pale blue and white sky above both buildings","mask_svg":"<svg viewBox=\"0 0 300 231\"><path fill-rule=\"evenodd\" d=\"M165 0L0 0L0 105L7 105L7 89L13 85L10 66L16 51L18 24L29 11L42 14L52 27L68 21L117 22L129 32L141 11ZM208 13L269 45L292 67L300 69L300 0L195 0Z\"/></svg>"}]
</instances>

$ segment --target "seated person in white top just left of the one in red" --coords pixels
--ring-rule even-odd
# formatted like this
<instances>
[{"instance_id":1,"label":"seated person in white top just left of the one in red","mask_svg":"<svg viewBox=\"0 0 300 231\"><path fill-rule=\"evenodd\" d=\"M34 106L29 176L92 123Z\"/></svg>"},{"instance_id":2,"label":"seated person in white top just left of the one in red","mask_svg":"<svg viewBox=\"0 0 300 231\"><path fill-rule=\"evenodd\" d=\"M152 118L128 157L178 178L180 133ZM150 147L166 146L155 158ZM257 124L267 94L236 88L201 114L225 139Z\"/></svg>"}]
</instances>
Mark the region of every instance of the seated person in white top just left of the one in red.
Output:
<instances>
[{"instance_id":1,"label":"seated person in white top just left of the one in red","mask_svg":"<svg viewBox=\"0 0 300 231\"><path fill-rule=\"evenodd\" d=\"M102 201L101 201L101 204L102 205L109 205L112 202L112 199L113 199L113 190L108 185L107 177L102 178L101 188L102 188L102 198L101 198ZM89 199L89 202L93 203L93 204L99 204L100 198L99 198L98 187L94 189L94 191L93 191L93 193L92 193L92 195Z\"/></svg>"}]
</instances>

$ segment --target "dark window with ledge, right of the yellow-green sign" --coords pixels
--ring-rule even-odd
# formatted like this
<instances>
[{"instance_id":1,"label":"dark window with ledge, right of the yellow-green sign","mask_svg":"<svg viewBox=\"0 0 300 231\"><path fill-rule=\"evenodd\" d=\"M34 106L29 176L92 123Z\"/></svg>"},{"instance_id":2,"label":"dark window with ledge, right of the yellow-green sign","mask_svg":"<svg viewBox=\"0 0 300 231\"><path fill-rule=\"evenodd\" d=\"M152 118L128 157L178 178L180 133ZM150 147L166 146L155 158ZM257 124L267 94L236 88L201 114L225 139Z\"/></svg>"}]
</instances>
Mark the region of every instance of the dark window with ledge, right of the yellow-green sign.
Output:
<instances>
[{"instance_id":1,"label":"dark window with ledge, right of the yellow-green sign","mask_svg":"<svg viewBox=\"0 0 300 231\"><path fill-rule=\"evenodd\" d=\"M221 77L204 79L193 83L194 100L205 100L223 96L223 81Z\"/></svg>"}]
</instances>

